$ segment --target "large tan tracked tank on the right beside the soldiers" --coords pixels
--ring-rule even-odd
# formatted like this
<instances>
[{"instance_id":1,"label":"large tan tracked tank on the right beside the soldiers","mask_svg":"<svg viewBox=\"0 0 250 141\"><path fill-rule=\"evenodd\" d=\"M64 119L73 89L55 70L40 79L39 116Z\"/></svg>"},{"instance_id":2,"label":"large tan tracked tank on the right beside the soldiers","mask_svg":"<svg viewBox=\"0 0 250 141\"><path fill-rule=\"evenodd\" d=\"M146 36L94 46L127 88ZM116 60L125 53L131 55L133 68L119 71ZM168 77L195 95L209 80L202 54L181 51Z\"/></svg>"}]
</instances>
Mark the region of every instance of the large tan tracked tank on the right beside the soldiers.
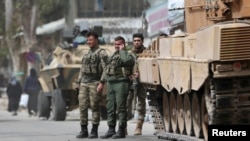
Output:
<instances>
[{"instance_id":1,"label":"large tan tracked tank on the right beside the soldiers","mask_svg":"<svg viewBox=\"0 0 250 141\"><path fill-rule=\"evenodd\" d=\"M158 37L139 56L158 138L208 140L209 125L250 124L246 5L249 0L185 0L185 32Z\"/></svg>"}]
</instances>

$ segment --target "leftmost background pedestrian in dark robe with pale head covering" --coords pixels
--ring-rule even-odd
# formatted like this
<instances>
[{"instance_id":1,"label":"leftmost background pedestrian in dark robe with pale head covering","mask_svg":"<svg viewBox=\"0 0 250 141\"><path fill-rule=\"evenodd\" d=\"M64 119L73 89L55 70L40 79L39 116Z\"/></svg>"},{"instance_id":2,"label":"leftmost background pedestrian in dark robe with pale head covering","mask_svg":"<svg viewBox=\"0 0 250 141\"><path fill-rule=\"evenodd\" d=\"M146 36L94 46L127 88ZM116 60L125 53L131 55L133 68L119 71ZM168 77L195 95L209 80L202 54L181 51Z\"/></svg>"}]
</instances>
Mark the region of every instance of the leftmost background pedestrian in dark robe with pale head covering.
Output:
<instances>
[{"instance_id":1,"label":"leftmost background pedestrian in dark robe with pale head covering","mask_svg":"<svg viewBox=\"0 0 250 141\"><path fill-rule=\"evenodd\" d=\"M17 115L19 107L19 101L23 93L22 86L16 77L11 77L10 82L7 86L6 93L8 96L8 111L13 112L13 116Z\"/></svg>"}]
</instances>

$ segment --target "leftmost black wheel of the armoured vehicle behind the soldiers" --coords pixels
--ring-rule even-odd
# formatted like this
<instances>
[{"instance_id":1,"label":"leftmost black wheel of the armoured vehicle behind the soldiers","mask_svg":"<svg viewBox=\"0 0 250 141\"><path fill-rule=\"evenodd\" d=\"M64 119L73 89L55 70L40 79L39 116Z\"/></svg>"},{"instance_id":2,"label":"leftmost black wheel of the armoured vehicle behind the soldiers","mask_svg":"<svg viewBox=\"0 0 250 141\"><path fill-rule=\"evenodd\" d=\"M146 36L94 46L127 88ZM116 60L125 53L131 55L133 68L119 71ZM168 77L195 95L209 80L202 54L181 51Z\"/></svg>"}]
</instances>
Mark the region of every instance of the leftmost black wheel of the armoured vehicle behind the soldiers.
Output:
<instances>
[{"instance_id":1,"label":"leftmost black wheel of the armoured vehicle behind the soldiers","mask_svg":"<svg viewBox=\"0 0 250 141\"><path fill-rule=\"evenodd\" d=\"M50 117L50 98L40 91L38 94L38 117Z\"/></svg>"}]
</instances>

